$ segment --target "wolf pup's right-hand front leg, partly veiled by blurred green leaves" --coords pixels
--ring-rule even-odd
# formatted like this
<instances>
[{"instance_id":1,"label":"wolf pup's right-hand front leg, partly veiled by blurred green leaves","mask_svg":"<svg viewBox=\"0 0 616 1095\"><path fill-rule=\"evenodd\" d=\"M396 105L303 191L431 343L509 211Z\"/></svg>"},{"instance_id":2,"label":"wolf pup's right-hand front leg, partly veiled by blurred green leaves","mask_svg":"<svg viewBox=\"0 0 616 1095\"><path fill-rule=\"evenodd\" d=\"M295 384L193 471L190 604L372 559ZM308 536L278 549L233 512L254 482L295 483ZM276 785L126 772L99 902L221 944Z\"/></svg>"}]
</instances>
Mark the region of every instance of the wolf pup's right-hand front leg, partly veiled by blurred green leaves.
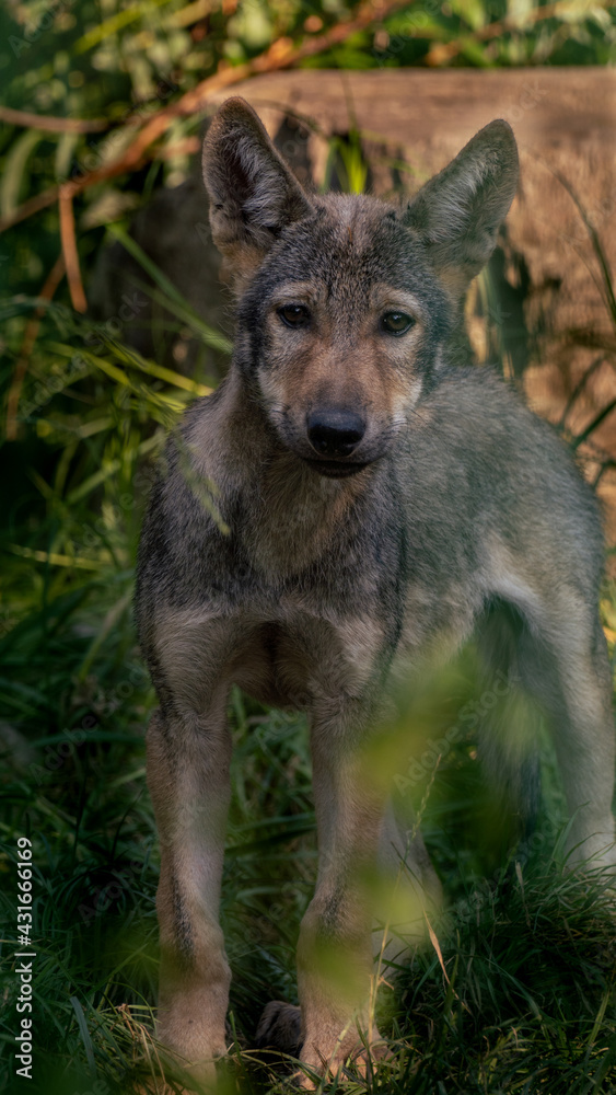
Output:
<instances>
[{"instance_id":1,"label":"wolf pup's right-hand front leg, partly veiled by blurred green leaves","mask_svg":"<svg viewBox=\"0 0 616 1095\"><path fill-rule=\"evenodd\" d=\"M318 877L300 930L298 989L301 1059L319 1073L362 1053L358 1028L372 1045L381 1041L371 1025L370 990L385 802L379 781L367 779L356 742L345 738L339 726L316 722L311 741Z\"/></svg>"}]
</instances>

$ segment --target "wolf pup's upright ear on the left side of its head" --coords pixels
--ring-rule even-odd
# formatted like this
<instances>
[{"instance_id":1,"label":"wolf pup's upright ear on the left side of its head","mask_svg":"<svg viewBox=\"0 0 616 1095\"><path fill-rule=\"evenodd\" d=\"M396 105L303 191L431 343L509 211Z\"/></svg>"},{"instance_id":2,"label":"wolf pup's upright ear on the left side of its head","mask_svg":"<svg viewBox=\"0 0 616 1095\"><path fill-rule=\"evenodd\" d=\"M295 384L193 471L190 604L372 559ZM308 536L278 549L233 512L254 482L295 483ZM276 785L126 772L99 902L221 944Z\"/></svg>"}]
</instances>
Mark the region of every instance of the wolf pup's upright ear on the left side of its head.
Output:
<instances>
[{"instance_id":1,"label":"wolf pup's upright ear on the left side of its head","mask_svg":"<svg viewBox=\"0 0 616 1095\"><path fill-rule=\"evenodd\" d=\"M280 229L307 216L309 199L244 99L228 99L214 115L202 164L213 242L243 280Z\"/></svg>"}]
</instances>

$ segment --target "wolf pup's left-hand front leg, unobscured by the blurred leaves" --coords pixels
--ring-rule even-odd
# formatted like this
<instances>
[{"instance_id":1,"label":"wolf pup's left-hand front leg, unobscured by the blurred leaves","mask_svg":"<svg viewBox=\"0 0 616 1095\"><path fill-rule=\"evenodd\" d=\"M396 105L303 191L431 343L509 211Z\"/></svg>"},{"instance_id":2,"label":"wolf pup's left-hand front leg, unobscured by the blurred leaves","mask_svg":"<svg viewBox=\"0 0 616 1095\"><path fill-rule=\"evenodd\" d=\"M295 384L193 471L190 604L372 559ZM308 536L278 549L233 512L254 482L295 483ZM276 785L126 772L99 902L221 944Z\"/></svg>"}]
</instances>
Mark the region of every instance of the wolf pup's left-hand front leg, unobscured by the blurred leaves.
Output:
<instances>
[{"instance_id":1,"label":"wolf pup's left-hand front leg, unobscured by the blurred leaves","mask_svg":"<svg viewBox=\"0 0 616 1095\"><path fill-rule=\"evenodd\" d=\"M159 1038L208 1084L225 1052L231 979L219 924L231 757L225 698L204 717L156 712L147 741L161 844Z\"/></svg>"}]
</instances>

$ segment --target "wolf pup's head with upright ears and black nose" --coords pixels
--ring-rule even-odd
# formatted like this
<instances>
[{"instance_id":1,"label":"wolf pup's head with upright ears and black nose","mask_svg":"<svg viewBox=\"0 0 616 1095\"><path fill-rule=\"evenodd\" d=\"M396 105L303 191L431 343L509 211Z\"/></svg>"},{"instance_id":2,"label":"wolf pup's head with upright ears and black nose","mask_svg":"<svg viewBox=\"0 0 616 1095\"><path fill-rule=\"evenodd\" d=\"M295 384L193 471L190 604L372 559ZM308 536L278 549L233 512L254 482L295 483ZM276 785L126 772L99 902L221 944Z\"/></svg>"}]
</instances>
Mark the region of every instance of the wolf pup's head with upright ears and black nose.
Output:
<instances>
[{"instance_id":1,"label":"wolf pup's head with upright ears and black nose","mask_svg":"<svg viewBox=\"0 0 616 1095\"><path fill-rule=\"evenodd\" d=\"M305 193L230 99L204 145L214 243L239 298L235 362L281 443L322 475L384 456L461 322L518 183L492 122L404 207Z\"/></svg>"}]
</instances>

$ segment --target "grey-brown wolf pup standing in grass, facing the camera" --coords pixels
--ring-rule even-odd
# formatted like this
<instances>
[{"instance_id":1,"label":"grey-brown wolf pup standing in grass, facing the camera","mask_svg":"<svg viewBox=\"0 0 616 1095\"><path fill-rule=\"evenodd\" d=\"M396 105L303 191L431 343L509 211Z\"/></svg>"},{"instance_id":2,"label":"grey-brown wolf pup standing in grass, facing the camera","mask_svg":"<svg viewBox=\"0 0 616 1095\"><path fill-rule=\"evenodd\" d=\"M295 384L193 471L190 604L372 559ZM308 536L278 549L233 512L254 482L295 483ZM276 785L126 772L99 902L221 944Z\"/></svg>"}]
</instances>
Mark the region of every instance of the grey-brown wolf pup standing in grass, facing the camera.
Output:
<instances>
[{"instance_id":1,"label":"grey-brown wolf pup standing in grass, facing the camera","mask_svg":"<svg viewBox=\"0 0 616 1095\"><path fill-rule=\"evenodd\" d=\"M438 900L420 837L361 766L396 682L487 636L486 656L505 655L549 713L570 861L616 861L595 502L550 427L464 349L464 292L515 193L510 127L486 126L395 207L304 193L233 99L208 131L204 173L237 295L235 351L168 445L137 615L160 700L148 731L160 1038L208 1081L230 981L218 907L232 683L310 714L319 867L298 979L314 1069L356 1052L370 1022L362 879L405 863L410 937ZM515 748L508 760L520 766ZM319 948L339 957L346 988Z\"/></svg>"}]
</instances>

